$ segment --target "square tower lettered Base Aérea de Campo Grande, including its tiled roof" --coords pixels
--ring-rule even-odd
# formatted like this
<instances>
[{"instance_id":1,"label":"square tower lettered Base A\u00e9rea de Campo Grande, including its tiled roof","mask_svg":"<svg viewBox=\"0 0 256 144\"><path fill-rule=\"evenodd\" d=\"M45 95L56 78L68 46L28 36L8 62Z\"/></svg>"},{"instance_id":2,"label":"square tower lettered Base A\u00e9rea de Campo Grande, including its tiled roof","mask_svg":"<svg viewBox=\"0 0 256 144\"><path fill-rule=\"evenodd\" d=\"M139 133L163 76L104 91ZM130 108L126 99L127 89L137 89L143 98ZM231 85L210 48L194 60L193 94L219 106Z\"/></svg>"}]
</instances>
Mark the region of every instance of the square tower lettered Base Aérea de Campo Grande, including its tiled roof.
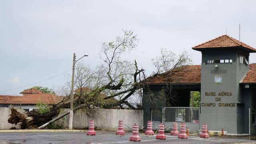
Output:
<instances>
[{"instance_id":1,"label":"square tower lettered Base A\u00e9rea de Campo Grande, including its tiled roof","mask_svg":"<svg viewBox=\"0 0 256 144\"><path fill-rule=\"evenodd\" d=\"M202 52L200 125L233 134L247 133L246 100L240 83L249 71L249 55L256 49L222 35L192 49ZM245 125L244 125L245 124Z\"/></svg>"}]
</instances>

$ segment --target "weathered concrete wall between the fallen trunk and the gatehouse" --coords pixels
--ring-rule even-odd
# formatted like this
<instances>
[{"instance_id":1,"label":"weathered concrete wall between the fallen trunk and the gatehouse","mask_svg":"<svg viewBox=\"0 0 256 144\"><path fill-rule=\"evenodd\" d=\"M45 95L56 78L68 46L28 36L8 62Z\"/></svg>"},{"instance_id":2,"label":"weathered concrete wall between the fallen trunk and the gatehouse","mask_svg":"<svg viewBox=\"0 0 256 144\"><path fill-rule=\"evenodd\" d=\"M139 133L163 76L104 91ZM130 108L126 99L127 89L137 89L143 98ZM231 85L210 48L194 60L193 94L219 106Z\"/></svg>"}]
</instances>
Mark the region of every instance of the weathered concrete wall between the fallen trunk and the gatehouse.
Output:
<instances>
[{"instance_id":1,"label":"weathered concrete wall between the fallen trunk and the gatehouse","mask_svg":"<svg viewBox=\"0 0 256 144\"><path fill-rule=\"evenodd\" d=\"M131 130L132 125L137 123L140 128L143 127L143 111L142 110L130 110L130 109L90 109L89 116L86 109L79 109L74 111L73 128L89 127L90 118L96 123L99 129L104 130L116 130L118 121L124 121L124 130ZM69 111L69 109L62 109L61 113ZM69 115L56 121L55 126L68 128ZM127 127L127 126L128 127ZM129 128L130 127L130 128Z\"/></svg>"}]
</instances>

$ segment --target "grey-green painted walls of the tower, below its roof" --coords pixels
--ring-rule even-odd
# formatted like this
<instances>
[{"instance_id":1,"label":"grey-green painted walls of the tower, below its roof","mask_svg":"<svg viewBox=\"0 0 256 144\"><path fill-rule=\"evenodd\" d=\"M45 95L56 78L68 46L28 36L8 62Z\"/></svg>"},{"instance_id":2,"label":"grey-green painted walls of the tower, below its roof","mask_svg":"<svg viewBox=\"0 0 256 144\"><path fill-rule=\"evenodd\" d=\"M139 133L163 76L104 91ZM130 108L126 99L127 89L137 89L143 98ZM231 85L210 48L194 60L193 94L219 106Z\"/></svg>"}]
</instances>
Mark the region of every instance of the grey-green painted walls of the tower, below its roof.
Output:
<instances>
[{"instance_id":1,"label":"grey-green painted walls of the tower, below its roof","mask_svg":"<svg viewBox=\"0 0 256 144\"><path fill-rule=\"evenodd\" d=\"M200 124L207 123L209 130L224 128L228 133L244 133L243 113L245 108L242 103L240 81L248 72L249 65L238 63L238 54L249 55L244 51L232 49L215 49L202 52ZM216 64L206 64L206 60L222 59L232 59L232 63L218 63L218 68L215 68ZM221 84L214 82L216 75L222 77ZM215 92L216 96L205 94L209 92ZM231 92L232 96L219 96L219 93L222 92ZM218 100L216 101L216 99ZM212 106L204 106L205 103L212 103ZM220 103L234 103L235 107L219 106Z\"/></svg>"}]
</instances>

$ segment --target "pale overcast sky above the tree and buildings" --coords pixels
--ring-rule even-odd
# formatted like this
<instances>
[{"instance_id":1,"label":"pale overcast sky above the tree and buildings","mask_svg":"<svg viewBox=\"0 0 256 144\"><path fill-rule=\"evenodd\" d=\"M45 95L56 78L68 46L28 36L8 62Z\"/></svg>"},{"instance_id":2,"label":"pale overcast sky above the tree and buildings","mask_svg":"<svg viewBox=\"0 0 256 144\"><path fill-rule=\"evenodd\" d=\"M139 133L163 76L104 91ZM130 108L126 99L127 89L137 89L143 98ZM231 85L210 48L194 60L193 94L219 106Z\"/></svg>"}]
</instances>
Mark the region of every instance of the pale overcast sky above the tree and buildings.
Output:
<instances>
[{"instance_id":1,"label":"pale overcast sky above the tree and buildings","mask_svg":"<svg viewBox=\"0 0 256 144\"><path fill-rule=\"evenodd\" d=\"M226 30L239 39L239 24L241 41L256 48L255 6L255 0L1 0L0 94L20 95L32 86L57 90L72 72L73 53L87 53L81 62L95 67L102 43L122 29L139 39L124 58L136 59L148 75L161 48L188 51L200 64L201 53L191 48Z\"/></svg>"}]
</instances>

